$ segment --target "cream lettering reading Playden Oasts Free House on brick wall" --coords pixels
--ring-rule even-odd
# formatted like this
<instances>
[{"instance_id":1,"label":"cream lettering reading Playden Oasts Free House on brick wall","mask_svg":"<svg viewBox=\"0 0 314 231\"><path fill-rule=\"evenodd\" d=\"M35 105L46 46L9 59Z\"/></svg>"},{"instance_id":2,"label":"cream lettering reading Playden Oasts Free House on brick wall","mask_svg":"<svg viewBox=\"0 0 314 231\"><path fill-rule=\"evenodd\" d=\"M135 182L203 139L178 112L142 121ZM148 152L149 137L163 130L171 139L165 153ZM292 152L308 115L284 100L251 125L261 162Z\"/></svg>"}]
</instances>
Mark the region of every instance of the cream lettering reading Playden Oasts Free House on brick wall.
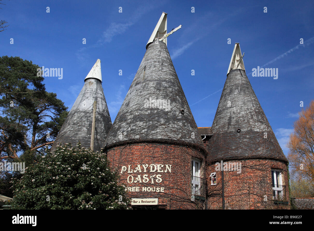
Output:
<instances>
[{"instance_id":1,"label":"cream lettering reading Playden Oasts Free House on brick wall","mask_svg":"<svg viewBox=\"0 0 314 231\"><path fill-rule=\"evenodd\" d=\"M121 167L121 174L123 173L137 173L137 177L133 175L127 176L128 184L148 183L155 184L162 182L162 173L171 173L171 164L138 164L135 166L128 165ZM149 174L145 174L149 173ZM155 173L155 174L154 174ZM161 173L161 174L157 174ZM129 192L164 192L164 187L126 187Z\"/></svg>"}]
</instances>

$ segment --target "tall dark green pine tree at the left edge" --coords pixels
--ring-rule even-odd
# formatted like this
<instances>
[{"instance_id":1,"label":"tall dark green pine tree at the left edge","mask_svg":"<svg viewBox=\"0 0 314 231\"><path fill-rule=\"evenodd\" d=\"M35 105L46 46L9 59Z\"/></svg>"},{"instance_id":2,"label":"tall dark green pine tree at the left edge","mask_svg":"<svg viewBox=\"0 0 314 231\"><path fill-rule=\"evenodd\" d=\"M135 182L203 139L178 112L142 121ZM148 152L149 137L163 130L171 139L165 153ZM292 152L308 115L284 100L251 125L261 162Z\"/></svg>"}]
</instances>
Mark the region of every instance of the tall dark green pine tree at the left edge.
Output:
<instances>
[{"instance_id":1,"label":"tall dark green pine tree at the left edge","mask_svg":"<svg viewBox=\"0 0 314 231\"><path fill-rule=\"evenodd\" d=\"M57 94L47 92L38 65L19 57L0 58L0 158L40 153L52 145L68 115Z\"/></svg>"}]
</instances>

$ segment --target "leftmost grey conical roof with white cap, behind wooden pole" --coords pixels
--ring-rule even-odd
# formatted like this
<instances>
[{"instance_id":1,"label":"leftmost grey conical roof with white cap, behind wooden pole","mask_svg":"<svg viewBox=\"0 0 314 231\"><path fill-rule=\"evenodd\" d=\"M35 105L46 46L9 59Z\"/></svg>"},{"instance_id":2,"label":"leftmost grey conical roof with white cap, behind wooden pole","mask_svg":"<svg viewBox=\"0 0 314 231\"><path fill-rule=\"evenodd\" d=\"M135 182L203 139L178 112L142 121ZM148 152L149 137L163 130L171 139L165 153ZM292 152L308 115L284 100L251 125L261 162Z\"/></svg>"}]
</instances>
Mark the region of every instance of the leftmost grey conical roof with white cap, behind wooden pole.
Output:
<instances>
[{"instance_id":1,"label":"leftmost grey conical roof with white cap, behind wooden pole","mask_svg":"<svg viewBox=\"0 0 314 231\"><path fill-rule=\"evenodd\" d=\"M111 127L111 118L101 85L100 59L97 59L84 81L84 86L63 123L51 151L56 149L57 143L76 145L80 141L83 147L90 147L94 101L97 104L94 151L100 151L104 145Z\"/></svg>"}]
</instances>

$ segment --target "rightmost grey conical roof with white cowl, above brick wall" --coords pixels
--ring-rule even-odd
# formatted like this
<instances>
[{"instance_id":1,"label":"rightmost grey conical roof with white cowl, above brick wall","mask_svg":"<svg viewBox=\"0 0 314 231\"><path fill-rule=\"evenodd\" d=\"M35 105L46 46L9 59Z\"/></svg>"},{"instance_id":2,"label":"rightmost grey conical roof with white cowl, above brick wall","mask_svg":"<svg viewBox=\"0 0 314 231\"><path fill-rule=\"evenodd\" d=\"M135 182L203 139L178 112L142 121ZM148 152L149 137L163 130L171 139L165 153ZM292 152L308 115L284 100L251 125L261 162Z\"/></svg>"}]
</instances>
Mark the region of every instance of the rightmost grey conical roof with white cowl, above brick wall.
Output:
<instances>
[{"instance_id":1,"label":"rightmost grey conical roof with white cowl, above brick wall","mask_svg":"<svg viewBox=\"0 0 314 231\"><path fill-rule=\"evenodd\" d=\"M239 55L233 54L230 64L239 60ZM214 135L207 146L208 162L248 158L287 161L246 76L244 64L241 69L233 66L228 70L211 129Z\"/></svg>"}]
</instances>

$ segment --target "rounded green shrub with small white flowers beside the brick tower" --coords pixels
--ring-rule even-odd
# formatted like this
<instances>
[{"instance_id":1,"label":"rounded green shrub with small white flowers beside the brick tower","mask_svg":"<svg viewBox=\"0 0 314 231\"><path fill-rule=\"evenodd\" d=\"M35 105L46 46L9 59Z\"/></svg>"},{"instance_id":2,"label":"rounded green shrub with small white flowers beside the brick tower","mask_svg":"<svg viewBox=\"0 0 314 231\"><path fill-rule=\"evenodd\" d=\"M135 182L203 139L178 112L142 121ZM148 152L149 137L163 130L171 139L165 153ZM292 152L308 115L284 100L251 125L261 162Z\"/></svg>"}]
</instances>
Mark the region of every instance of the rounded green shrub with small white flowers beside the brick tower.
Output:
<instances>
[{"instance_id":1,"label":"rounded green shrub with small white flowers beside the brick tower","mask_svg":"<svg viewBox=\"0 0 314 231\"><path fill-rule=\"evenodd\" d=\"M128 209L106 154L71 144L46 150L15 180L12 209Z\"/></svg>"}]
</instances>

